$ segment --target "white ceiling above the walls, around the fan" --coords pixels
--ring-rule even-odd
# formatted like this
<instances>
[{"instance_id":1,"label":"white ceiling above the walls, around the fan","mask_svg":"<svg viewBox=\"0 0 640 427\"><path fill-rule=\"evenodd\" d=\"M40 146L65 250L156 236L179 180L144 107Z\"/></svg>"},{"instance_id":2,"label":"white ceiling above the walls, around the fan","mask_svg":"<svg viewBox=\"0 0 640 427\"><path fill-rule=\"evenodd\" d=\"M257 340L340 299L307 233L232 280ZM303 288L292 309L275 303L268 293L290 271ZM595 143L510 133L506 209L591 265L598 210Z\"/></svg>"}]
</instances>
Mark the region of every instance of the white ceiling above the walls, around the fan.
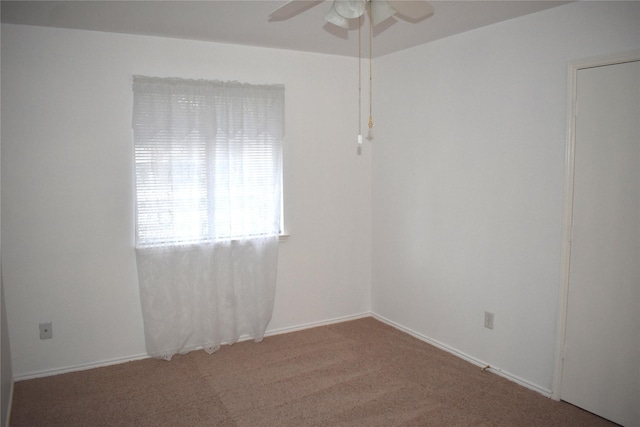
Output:
<instances>
[{"instance_id":1,"label":"white ceiling above the walls, around the fan","mask_svg":"<svg viewBox=\"0 0 640 427\"><path fill-rule=\"evenodd\" d=\"M327 24L331 0L269 22L286 0L2 1L2 22L142 34L357 56L358 32ZM374 31L373 56L417 46L486 25L556 7L567 1L431 1L434 15L420 22L393 17ZM363 32L365 36L368 32ZM364 43L365 46L368 43Z\"/></svg>"}]
</instances>

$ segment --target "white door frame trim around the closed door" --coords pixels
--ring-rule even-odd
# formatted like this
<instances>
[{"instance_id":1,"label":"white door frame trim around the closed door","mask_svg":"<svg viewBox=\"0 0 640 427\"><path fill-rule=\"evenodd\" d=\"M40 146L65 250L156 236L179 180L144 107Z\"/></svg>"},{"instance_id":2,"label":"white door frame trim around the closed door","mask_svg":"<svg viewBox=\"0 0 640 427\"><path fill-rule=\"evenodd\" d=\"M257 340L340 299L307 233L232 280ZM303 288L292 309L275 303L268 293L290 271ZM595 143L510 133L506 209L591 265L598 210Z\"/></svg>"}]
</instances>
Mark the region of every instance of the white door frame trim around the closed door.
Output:
<instances>
[{"instance_id":1,"label":"white door frame trim around the closed door","mask_svg":"<svg viewBox=\"0 0 640 427\"><path fill-rule=\"evenodd\" d=\"M578 71L603 67L607 65L624 64L640 61L640 49L610 55L596 56L571 61L568 66L567 78L567 125L565 146L565 182L564 207L562 218L562 257L560 292L558 296L558 314L556 320L556 351L554 358L551 398L561 399L562 369L564 363L564 342L567 326L567 306L569 303L569 267L571 262L571 229L573 222L573 178L575 172L576 146L576 97L578 95Z\"/></svg>"}]
</instances>

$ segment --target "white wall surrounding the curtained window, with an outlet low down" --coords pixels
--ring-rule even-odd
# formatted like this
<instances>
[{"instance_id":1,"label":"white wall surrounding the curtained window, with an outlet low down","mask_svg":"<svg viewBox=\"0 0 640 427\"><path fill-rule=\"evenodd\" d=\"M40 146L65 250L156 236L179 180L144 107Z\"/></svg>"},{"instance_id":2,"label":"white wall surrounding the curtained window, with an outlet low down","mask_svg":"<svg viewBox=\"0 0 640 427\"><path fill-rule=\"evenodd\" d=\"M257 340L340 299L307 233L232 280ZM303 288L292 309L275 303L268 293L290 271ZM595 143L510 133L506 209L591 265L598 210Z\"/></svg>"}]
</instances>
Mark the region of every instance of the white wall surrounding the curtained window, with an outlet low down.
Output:
<instances>
[{"instance_id":1,"label":"white wall surrounding the curtained window, with an outlet low down","mask_svg":"<svg viewBox=\"0 0 640 427\"><path fill-rule=\"evenodd\" d=\"M2 240L16 378L145 353L131 76L283 83L285 212L269 331L368 312L371 156L354 59L2 25ZM53 322L40 340L38 323Z\"/></svg>"}]
</instances>

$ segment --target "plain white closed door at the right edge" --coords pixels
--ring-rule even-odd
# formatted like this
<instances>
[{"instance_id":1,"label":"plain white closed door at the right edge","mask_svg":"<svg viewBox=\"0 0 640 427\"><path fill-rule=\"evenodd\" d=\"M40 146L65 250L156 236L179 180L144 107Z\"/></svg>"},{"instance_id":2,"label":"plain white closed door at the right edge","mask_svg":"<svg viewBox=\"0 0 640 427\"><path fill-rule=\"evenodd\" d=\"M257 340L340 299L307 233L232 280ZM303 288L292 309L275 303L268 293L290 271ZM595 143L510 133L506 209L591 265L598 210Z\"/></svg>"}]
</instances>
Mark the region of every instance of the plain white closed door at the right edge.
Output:
<instances>
[{"instance_id":1,"label":"plain white closed door at the right edge","mask_svg":"<svg viewBox=\"0 0 640 427\"><path fill-rule=\"evenodd\" d=\"M560 398L640 426L640 61L577 72Z\"/></svg>"}]
</instances>

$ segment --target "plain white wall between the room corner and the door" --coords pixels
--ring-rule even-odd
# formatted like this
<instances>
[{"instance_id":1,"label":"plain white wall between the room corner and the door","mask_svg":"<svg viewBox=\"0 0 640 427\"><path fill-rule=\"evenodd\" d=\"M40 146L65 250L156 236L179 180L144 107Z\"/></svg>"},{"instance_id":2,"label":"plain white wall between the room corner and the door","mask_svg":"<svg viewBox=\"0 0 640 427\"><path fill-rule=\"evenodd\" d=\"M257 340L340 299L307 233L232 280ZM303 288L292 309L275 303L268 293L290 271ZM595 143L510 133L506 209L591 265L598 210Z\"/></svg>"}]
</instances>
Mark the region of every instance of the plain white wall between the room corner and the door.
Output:
<instances>
[{"instance_id":1,"label":"plain white wall between the room corner and the door","mask_svg":"<svg viewBox=\"0 0 640 427\"><path fill-rule=\"evenodd\" d=\"M567 66L639 47L639 2L578 2L376 61L373 311L550 393Z\"/></svg>"}]
</instances>

